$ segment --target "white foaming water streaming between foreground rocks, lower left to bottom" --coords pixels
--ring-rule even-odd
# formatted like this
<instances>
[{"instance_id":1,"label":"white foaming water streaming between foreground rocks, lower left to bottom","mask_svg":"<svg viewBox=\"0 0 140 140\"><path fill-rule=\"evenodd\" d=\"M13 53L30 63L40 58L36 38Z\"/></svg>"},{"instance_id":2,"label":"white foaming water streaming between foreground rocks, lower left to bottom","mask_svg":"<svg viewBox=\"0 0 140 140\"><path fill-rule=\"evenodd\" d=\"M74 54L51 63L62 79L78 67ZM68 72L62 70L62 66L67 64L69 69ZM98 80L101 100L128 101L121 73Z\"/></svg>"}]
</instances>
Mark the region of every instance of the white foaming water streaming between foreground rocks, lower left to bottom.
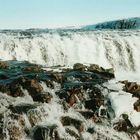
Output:
<instances>
[{"instance_id":1,"label":"white foaming water streaming between foreground rocks, lower left to bottom","mask_svg":"<svg viewBox=\"0 0 140 140\"><path fill-rule=\"evenodd\" d=\"M80 113L75 111L74 109L70 108L67 111L64 111L62 104L60 102L60 99L55 95L55 92L59 90L60 85L55 83L55 88L50 89L48 88L45 83L41 83L43 86L43 90L45 92L50 92L53 95L53 100L50 104L44 103L40 104L37 108L31 109L28 111L27 115L23 114L23 119L25 120L25 126L28 129L33 130L33 127L31 126L32 124L30 122L34 122L35 126L42 125L42 126L51 126L51 125L56 125L57 130L59 133L59 136L64 139L64 140L76 140L73 136L69 135L66 133L65 126L62 126L60 122L60 118L62 116L69 116L71 118L75 118L77 120L81 120L84 123L84 131L81 133L81 139L83 140L105 140L105 139L112 139L112 140L130 140L130 137L125 134L125 133L118 133L116 132L113 128L110 126L107 126L106 122L104 122L105 125L98 125L94 123L91 120L86 120ZM27 91L24 91L25 93ZM27 94L27 93L26 93ZM26 98L29 95L25 95L24 97L19 97L19 98L13 98L13 97L8 97L7 95L1 94L1 98L3 101L5 101L7 104L5 106L8 106L9 104L13 105L18 105L21 104L24 100L26 100L26 103L33 104L33 101L31 101L30 98ZM3 105L0 104L0 108ZM5 110L5 108L4 108ZM0 110L1 111L1 110ZM10 139L10 134L8 132L8 129L16 126L20 130L22 129L21 124L19 121L15 121L12 119L10 116L11 111L6 111L5 110L5 117L4 117L4 125L3 125L3 133L5 134L5 139L4 140L9 140ZM32 121L31 121L32 120ZM90 134L87 132L87 128L94 128L95 132L94 134ZM78 130L76 130L74 127L69 127L71 130L73 130L75 133L78 134ZM21 130L22 131L22 130ZM79 135L79 134L78 134ZM30 135L32 136L32 135ZM47 137L49 140L50 138ZM18 139L19 140L19 139ZM20 140L32 140L31 137L27 137L26 134L22 133L22 137ZM137 139L136 139L137 140Z\"/></svg>"}]
</instances>

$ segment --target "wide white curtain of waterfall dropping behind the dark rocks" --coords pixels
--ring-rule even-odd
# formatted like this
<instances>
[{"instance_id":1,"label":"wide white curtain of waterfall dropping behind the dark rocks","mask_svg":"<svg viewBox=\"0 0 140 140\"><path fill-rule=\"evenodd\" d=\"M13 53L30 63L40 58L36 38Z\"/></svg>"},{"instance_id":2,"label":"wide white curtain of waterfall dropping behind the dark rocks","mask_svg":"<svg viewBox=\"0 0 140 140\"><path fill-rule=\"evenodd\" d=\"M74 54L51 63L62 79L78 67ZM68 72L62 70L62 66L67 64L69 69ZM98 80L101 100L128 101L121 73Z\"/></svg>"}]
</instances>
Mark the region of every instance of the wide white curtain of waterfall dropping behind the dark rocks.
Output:
<instances>
[{"instance_id":1,"label":"wide white curtain of waterfall dropping behind the dark rocks","mask_svg":"<svg viewBox=\"0 0 140 140\"><path fill-rule=\"evenodd\" d=\"M34 34L0 33L0 59L53 65L95 63L115 71L140 70L140 31L55 31Z\"/></svg>"}]
</instances>

